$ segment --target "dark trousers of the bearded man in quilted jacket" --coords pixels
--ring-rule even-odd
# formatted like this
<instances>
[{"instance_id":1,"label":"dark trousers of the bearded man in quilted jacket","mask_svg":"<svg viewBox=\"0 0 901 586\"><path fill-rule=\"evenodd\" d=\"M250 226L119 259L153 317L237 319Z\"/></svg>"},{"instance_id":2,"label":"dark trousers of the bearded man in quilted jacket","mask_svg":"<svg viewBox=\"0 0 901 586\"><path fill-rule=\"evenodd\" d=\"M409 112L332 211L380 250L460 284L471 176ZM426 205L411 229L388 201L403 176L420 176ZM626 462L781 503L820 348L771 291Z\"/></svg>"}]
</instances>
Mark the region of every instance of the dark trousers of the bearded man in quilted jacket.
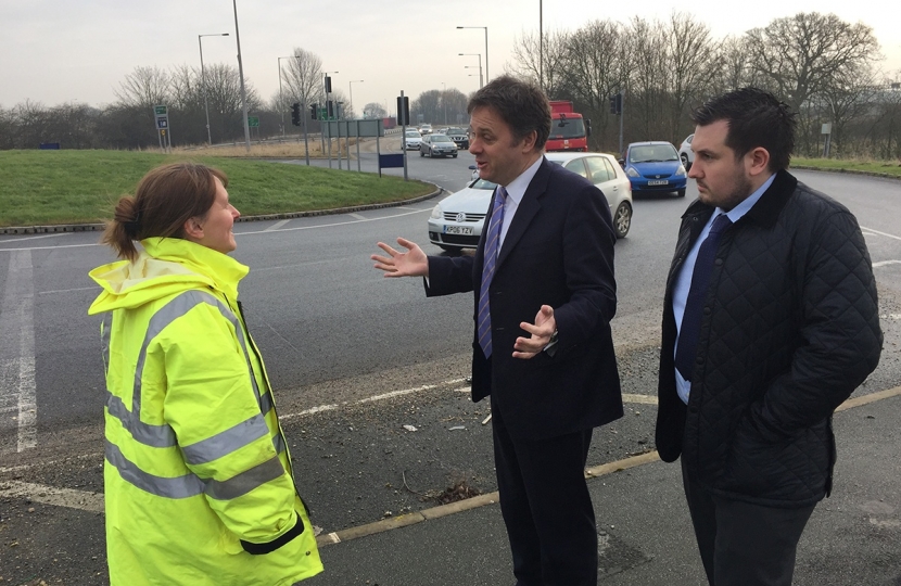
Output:
<instances>
[{"instance_id":1,"label":"dark trousers of the bearded man in quilted jacket","mask_svg":"<svg viewBox=\"0 0 901 586\"><path fill-rule=\"evenodd\" d=\"M791 586L798 542L816 505L778 509L723 498L682 462L682 482L710 586Z\"/></svg>"}]
</instances>

